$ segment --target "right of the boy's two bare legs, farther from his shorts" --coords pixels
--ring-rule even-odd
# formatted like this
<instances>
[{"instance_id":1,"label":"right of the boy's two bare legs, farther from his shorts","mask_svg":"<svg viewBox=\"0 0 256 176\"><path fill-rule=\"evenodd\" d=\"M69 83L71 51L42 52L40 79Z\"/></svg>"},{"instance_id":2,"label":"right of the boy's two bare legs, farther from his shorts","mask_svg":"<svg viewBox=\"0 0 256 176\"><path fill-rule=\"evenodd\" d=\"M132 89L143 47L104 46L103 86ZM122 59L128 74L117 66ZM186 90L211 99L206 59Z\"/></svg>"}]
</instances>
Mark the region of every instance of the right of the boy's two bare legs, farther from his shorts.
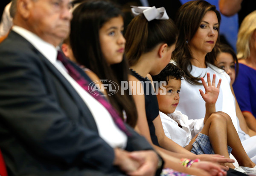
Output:
<instances>
[{"instance_id":1,"label":"right of the boy's two bare legs, farther from his shorts","mask_svg":"<svg viewBox=\"0 0 256 176\"><path fill-rule=\"evenodd\" d=\"M255 164L250 160L249 156L245 152L230 116L224 112L218 113L227 119L227 144L233 148L231 153L236 158L239 166L254 167Z\"/></svg>"}]
</instances>

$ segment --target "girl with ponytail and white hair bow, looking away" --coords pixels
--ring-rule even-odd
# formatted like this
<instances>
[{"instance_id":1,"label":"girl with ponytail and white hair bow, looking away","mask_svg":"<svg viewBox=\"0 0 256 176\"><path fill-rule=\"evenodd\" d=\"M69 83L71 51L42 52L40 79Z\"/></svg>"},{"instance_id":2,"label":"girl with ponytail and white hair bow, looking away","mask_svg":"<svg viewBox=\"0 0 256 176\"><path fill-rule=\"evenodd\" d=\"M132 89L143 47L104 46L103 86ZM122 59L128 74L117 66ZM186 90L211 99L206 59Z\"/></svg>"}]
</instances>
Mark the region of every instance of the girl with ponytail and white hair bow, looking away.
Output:
<instances>
[{"instance_id":1,"label":"girl with ponytail and white hair bow, looking away","mask_svg":"<svg viewBox=\"0 0 256 176\"><path fill-rule=\"evenodd\" d=\"M197 156L165 136L150 75L159 74L170 62L179 32L163 7L158 9L155 7L132 7L132 12L136 17L131 21L125 33L125 54L130 65L130 88L138 113L135 129L145 136L160 154L163 154L165 167L193 175L206 176L220 173L225 175L226 173L220 170L220 168L226 169L225 167L193 159L199 158L215 162L231 162L233 160L224 159L219 155ZM182 169L175 165L175 162L179 162L184 157L189 159L183 160L183 165L186 165L184 162L193 163L193 168ZM214 167L217 170L213 169Z\"/></svg>"}]
</instances>

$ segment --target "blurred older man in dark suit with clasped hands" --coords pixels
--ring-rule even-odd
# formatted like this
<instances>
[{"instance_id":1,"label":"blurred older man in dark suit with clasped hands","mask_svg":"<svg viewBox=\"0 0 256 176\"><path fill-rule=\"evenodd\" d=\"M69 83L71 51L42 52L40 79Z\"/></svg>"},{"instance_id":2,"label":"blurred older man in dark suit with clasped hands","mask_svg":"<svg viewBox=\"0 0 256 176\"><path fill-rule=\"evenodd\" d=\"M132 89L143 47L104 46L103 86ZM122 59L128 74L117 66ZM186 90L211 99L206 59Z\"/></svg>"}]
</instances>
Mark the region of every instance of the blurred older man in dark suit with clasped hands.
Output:
<instances>
[{"instance_id":1,"label":"blurred older man in dark suit with clasped hands","mask_svg":"<svg viewBox=\"0 0 256 176\"><path fill-rule=\"evenodd\" d=\"M56 59L70 8L70 0L17 0L14 26L0 44L0 149L9 175L159 174L163 163L151 145L128 125L118 128ZM99 130L102 117L108 128Z\"/></svg>"}]
</instances>

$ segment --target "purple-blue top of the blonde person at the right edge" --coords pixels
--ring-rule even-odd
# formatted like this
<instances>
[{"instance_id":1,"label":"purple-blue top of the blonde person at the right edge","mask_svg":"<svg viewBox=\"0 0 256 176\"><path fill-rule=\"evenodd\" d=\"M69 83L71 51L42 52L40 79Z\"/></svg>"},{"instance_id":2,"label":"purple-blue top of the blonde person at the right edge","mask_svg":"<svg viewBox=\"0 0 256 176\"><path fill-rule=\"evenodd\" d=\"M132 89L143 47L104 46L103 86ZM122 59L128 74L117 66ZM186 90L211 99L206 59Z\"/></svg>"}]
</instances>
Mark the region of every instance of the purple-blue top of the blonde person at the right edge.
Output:
<instances>
[{"instance_id":1,"label":"purple-blue top of the blonde person at the right edge","mask_svg":"<svg viewBox=\"0 0 256 176\"><path fill-rule=\"evenodd\" d=\"M233 89L241 111L256 117L256 70L239 63L239 73Z\"/></svg>"}]
</instances>

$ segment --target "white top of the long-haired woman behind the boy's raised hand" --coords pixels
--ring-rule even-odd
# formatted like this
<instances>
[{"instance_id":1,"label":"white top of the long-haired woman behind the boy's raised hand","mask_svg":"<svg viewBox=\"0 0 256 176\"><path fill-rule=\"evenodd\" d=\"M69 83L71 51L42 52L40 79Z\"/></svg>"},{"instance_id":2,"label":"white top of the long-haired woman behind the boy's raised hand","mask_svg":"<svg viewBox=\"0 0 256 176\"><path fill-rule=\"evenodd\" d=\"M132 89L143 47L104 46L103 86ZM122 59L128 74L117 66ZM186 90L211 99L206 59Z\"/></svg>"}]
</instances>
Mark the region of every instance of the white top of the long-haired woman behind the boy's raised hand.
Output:
<instances>
[{"instance_id":1,"label":"white top of the long-haired woman behind the boy's raised hand","mask_svg":"<svg viewBox=\"0 0 256 176\"><path fill-rule=\"evenodd\" d=\"M216 85L218 80L221 79L221 87L218 95L217 102L215 104L216 111L223 111L227 113L233 122L236 131L238 131L238 125L236 120L236 102L234 101L234 96L230 89L230 77L228 74L209 63L207 63L207 68L198 68L192 65L192 71L190 74L193 77L204 77L205 82L207 82L207 73L210 73L212 80L212 75L216 75ZM198 82L201 82L198 81ZM189 119L201 119L205 116L205 101L201 97L199 89L204 90L203 85L192 85L186 80L181 80L180 88L180 102L177 106L177 111L181 111L189 116Z\"/></svg>"}]
</instances>

